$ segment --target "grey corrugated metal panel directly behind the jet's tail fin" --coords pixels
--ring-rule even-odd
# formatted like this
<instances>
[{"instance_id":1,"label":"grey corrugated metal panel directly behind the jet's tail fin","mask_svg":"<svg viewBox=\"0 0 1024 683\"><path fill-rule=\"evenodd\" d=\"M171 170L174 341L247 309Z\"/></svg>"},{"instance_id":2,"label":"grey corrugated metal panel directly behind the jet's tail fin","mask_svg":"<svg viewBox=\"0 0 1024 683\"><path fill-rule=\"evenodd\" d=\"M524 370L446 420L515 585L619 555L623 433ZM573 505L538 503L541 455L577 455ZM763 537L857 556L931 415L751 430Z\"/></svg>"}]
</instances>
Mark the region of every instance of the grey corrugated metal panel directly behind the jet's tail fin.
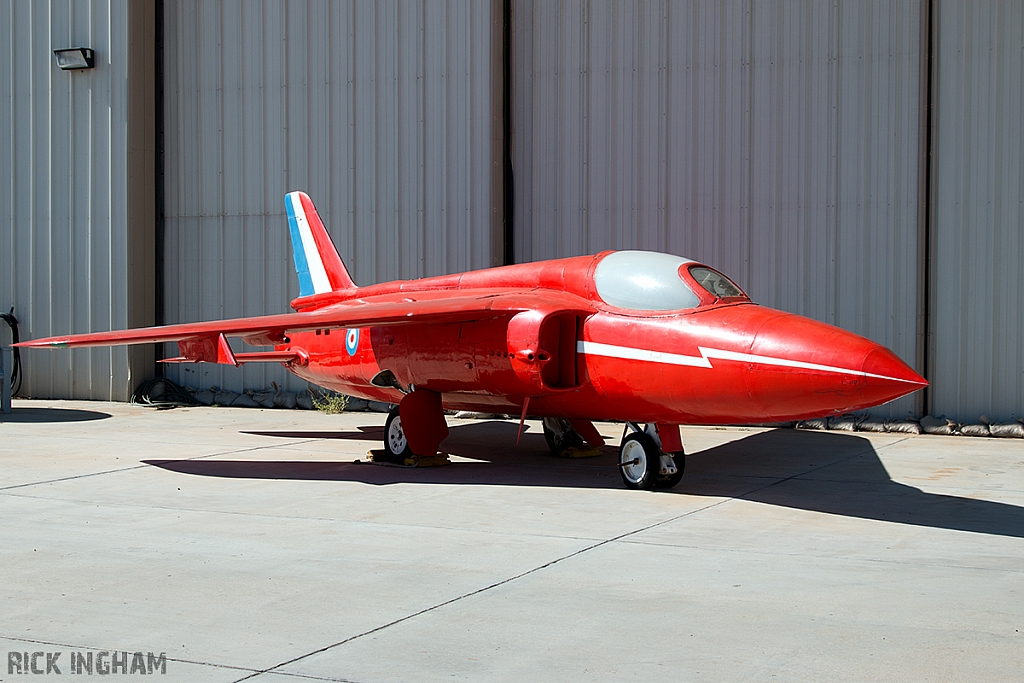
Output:
<instances>
[{"instance_id":1,"label":"grey corrugated metal panel directly behind the jet's tail fin","mask_svg":"<svg viewBox=\"0 0 1024 683\"><path fill-rule=\"evenodd\" d=\"M166 322L289 310L293 189L312 198L360 285L498 264L494 6L167 0ZM168 373L305 386L279 366Z\"/></svg>"}]
</instances>

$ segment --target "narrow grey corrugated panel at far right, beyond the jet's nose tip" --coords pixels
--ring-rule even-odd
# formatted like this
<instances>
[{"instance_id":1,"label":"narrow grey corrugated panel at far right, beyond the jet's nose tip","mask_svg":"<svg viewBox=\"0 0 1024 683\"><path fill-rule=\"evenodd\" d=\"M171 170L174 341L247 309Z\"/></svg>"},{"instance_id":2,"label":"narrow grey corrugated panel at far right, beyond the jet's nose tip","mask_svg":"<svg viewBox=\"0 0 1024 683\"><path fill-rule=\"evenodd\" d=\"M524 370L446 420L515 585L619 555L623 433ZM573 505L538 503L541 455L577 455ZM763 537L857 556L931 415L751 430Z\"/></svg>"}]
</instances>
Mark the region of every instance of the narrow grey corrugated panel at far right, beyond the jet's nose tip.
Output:
<instances>
[{"instance_id":1,"label":"narrow grey corrugated panel at far right, beyond the jet's nose tip","mask_svg":"<svg viewBox=\"0 0 1024 683\"><path fill-rule=\"evenodd\" d=\"M1024 417L1024 5L937 5L935 414Z\"/></svg>"}]
</instances>

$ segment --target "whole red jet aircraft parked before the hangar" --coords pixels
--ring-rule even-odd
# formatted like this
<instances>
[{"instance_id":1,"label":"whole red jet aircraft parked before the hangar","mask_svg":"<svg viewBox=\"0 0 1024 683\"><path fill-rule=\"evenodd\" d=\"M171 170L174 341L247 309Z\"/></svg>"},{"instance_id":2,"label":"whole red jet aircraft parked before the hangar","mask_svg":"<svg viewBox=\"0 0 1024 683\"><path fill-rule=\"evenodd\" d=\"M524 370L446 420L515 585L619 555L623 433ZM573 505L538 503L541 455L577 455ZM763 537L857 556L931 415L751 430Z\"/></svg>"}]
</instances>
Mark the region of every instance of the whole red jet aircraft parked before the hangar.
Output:
<instances>
[{"instance_id":1,"label":"whole red jet aircraft parked before the hangar","mask_svg":"<svg viewBox=\"0 0 1024 683\"><path fill-rule=\"evenodd\" d=\"M683 473L679 425L839 415L928 382L863 337L753 303L702 263L606 251L356 287L304 193L285 198L300 295L294 313L51 337L20 346L177 342L169 361L281 362L304 380L397 403L389 458L433 456L444 409L544 418L552 451L629 433L630 488ZM237 352L228 337L272 351ZM645 425L641 427L641 425Z\"/></svg>"}]
</instances>

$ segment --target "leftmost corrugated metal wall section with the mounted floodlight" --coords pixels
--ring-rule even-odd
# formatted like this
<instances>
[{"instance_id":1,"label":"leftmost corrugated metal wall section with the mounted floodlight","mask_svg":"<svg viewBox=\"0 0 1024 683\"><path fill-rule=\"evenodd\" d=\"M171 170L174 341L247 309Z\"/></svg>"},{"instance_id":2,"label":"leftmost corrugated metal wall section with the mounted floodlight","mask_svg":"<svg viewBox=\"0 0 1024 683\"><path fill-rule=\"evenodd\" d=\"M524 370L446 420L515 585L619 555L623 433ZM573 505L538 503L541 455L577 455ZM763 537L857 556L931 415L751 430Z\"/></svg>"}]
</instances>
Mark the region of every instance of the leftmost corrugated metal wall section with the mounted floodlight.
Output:
<instances>
[{"instance_id":1,"label":"leftmost corrugated metal wall section with the mounted floodlight","mask_svg":"<svg viewBox=\"0 0 1024 683\"><path fill-rule=\"evenodd\" d=\"M138 10L128 0L0 0L7 24L7 66L0 68L6 123L0 126L0 307L14 306L23 339L152 324L152 256L151 300L141 312L128 256L137 246L133 230L150 233L152 252L154 229L152 103L147 148L130 144L138 124L129 105L129 95L139 94L130 93L138 76L132 71ZM52 50L78 46L95 50L95 69L60 71ZM152 41L143 49L152 99ZM134 224L129 220L138 201L131 197L138 188L129 179L129 147L150 155L142 193L147 223L144 212ZM0 328L6 345L7 328ZM147 362L145 354L23 351L22 395L125 400L140 375L152 376L152 352Z\"/></svg>"}]
</instances>

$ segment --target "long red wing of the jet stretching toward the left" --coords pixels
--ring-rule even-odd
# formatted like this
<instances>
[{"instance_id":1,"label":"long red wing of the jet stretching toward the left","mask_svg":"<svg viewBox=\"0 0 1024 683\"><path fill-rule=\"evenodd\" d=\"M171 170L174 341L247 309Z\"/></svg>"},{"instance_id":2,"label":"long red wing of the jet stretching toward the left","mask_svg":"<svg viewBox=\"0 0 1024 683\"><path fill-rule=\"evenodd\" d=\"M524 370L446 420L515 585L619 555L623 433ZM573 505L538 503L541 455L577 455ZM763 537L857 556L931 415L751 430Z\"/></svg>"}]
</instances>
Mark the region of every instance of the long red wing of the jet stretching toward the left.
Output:
<instances>
[{"instance_id":1,"label":"long red wing of the jet stretching toward the left","mask_svg":"<svg viewBox=\"0 0 1024 683\"><path fill-rule=\"evenodd\" d=\"M218 348L222 350L226 347L225 337L241 337L255 346L270 346L285 343L286 337L295 332L383 325L469 323L524 310L588 313L594 308L589 301L575 295L541 288L397 292L349 299L298 313L65 335L25 341L15 346L81 348L179 342L183 351L188 346L194 347L195 352L189 355L207 356L203 359L213 360L208 356L211 352L216 356ZM204 348L206 352L202 351Z\"/></svg>"}]
</instances>

